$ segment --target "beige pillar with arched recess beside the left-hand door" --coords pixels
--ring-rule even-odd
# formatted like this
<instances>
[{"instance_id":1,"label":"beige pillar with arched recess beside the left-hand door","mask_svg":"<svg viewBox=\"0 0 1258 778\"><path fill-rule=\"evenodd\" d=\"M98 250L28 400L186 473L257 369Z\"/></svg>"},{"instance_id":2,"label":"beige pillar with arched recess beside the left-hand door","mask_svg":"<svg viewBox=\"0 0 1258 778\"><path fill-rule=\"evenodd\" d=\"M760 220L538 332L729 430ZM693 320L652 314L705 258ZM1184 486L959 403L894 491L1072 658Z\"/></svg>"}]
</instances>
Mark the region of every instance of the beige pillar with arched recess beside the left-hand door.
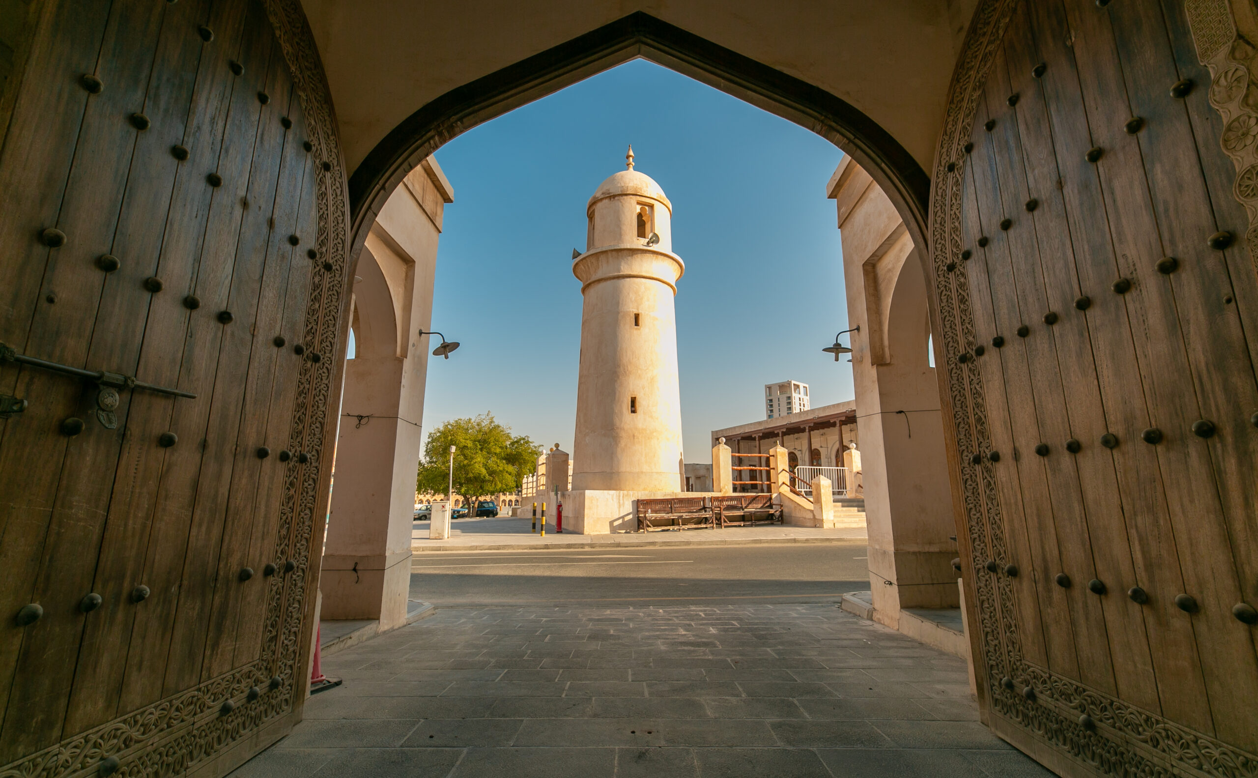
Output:
<instances>
[{"instance_id":1,"label":"beige pillar with arched recess beside the left-hand door","mask_svg":"<svg viewBox=\"0 0 1258 778\"><path fill-rule=\"evenodd\" d=\"M355 271L353 359L345 366L331 517L320 589L323 619L405 623L415 468L437 242L449 181L431 159L376 218Z\"/></svg>"}]
</instances>

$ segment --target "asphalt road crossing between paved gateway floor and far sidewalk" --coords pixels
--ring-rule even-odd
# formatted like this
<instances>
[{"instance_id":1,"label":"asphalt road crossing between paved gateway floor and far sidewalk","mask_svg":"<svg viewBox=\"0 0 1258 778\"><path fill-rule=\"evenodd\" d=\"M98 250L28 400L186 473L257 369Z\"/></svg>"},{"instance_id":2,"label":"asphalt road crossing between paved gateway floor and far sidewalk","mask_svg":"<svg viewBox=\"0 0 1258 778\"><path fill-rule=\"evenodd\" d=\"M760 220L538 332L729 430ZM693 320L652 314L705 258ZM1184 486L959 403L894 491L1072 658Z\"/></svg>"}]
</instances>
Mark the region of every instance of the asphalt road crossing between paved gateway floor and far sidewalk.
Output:
<instances>
[{"instance_id":1,"label":"asphalt road crossing between paved gateway floor and far sidewalk","mask_svg":"<svg viewBox=\"0 0 1258 778\"><path fill-rule=\"evenodd\" d=\"M435 606L682 606L838 602L869 588L866 545L784 544L439 551L411 561Z\"/></svg>"}]
</instances>

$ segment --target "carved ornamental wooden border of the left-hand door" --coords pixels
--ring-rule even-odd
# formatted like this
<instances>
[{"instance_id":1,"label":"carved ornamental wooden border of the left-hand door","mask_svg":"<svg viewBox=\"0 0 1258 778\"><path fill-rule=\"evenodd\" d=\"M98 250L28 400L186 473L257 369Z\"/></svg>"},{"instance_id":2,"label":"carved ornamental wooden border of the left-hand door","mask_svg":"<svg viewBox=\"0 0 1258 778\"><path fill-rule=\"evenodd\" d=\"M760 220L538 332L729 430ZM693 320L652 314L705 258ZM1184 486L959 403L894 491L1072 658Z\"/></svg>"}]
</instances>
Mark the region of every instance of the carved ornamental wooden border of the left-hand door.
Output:
<instances>
[{"instance_id":1,"label":"carved ornamental wooden border of the left-hand door","mask_svg":"<svg viewBox=\"0 0 1258 778\"><path fill-rule=\"evenodd\" d=\"M309 141L314 146L316 247L331 262L332 272L312 273L306 324L307 344L318 344L320 354L337 354L345 261L348 235L348 195L336 115L314 37L299 0L242 0L262 3L276 39L284 53L297 88ZM281 569L292 560L296 569L268 579L267 614L259 658L249 665L132 711L52 745L42 752L0 767L0 778L62 778L96 775L102 760L121 764L116 775L159 778L198 768L263 725L294 710L306 694L306 658L309 646L307 614L318 578L317 559L311 567L311 549L321 545L322 530L316 516L327 509L327 473L322 466L328 441L328 402L337 371L336 359L302 361L289 424L291 451L311 453L308 465L296 458L286 467L281 497L281 520L272 561ZM318 538L316 538L316 534ZM270 690L272 677L279 689ZM262 695L248 700L252 687ZM234 710L220 714L224 702ZM277 733L277 736L282 733ZM258 748L267 745L258 744Z\"/></svg>"}]
</instances>

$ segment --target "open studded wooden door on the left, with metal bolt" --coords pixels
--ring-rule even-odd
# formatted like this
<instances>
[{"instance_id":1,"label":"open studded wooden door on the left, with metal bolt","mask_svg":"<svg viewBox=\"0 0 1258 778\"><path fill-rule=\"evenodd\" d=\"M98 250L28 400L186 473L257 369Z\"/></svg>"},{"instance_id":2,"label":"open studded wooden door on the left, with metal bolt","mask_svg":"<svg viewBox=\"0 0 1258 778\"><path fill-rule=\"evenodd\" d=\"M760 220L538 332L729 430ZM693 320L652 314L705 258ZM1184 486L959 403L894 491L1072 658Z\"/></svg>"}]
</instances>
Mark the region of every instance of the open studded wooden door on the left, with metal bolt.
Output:
<instances>
[{"instance_id":1,"label":"open studded wooden door on the left, with metal bolt","mask_svg":"<svg viewBox=\"0 0 1258 778\"><path fill-rule=\"evenodd\" d=\"M296 1L5 8L0 774L221 772L308 677L326 84Z\"/></svg>"}]
</instances>

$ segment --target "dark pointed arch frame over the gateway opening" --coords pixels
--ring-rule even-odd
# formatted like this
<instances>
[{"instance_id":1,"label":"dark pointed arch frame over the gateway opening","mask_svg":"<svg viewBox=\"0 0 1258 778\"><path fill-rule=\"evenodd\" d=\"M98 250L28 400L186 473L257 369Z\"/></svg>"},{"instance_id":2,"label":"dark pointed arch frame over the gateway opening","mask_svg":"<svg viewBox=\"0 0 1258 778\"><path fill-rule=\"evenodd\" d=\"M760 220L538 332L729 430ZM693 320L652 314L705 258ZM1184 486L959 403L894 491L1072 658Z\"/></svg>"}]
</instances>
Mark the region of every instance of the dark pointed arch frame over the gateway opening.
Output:
<instances>
[{"instance_id":1,"label":"dark pointed arch frame over the gateway opening","mask_svg":"<svg viewBox=\"0 0 1258 778\"><path fill-rule=\"evenodd\" d=\"M630 59L643 58L816 132L857 160L925 245L930 178L886 130L835 94L637 11L458 86L394 127L350 179L353 252L401 180L458 135Z\"/></svg>"}]
</instances>

